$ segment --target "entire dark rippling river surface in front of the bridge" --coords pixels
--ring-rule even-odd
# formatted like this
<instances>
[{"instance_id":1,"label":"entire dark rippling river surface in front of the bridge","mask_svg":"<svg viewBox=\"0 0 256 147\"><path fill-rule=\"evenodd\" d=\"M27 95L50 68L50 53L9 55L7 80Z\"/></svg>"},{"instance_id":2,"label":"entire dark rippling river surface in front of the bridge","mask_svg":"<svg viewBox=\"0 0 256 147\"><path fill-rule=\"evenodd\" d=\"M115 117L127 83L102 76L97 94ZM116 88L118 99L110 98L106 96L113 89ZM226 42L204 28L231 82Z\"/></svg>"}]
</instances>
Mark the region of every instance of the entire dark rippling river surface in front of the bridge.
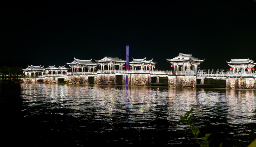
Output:
<instances>
[{"instance_id":1,"label":"entire dark rippling river surface in front of the bridge","mask_svg":"<svg viewBox=\"0 0 256 147\"><path fill-rule=\"evenodd\" d=\"M180 115L194 108L211 146L256 139L255 90L0 84L5 143L32 146L198 146Z\"/></svg>"}]
</instances>

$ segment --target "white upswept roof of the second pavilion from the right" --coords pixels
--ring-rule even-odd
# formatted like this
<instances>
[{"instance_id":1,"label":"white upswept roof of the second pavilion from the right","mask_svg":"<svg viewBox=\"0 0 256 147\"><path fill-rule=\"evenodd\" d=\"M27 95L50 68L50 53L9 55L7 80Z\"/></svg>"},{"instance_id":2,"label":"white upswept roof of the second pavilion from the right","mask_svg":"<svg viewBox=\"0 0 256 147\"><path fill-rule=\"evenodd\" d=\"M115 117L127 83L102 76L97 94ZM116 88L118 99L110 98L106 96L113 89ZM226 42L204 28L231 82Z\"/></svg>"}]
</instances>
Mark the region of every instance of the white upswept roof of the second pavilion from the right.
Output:
<instances>
[{"instance_id":1,"label":"white upswept roof of the second pavilion from the right","mask_svg":"<svg viewBox=\"0 0 256 147\"><path fill-rule=\"evenodd\" d=\"M167 62L185 62L185 61L204 62L204 60L195 58L191 54L183 54L183 53L180 53L177 57L173 59L166 59L166 60Z\"/></svg>"}]
</instances>

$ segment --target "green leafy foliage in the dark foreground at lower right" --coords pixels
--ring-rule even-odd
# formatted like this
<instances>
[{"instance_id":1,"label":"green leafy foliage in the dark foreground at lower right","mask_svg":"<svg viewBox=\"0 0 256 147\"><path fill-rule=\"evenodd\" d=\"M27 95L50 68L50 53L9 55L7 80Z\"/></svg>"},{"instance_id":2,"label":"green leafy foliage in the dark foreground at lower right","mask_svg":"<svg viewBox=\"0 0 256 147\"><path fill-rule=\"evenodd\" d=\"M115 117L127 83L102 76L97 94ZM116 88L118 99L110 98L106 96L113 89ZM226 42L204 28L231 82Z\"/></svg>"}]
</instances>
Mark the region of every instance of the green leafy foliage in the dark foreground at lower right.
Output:
<instances>
[{"instance_id":1,"label":"green leafy foliage in the dark foreground at lower right","mask_svg":"<svg viewBox=\"0 0 256 147\"><path fill-rule=\"evenodd\" d=\"M193 108L191 108L190 111L188 111L187 113L185 113L184 116L180 115L180 121L179 122L186 122L186 124L188 125L187 129L189 129L188 133L192 133L194 135L194 137L196 138L196 143L198 143L200 145L200 147L209 147L210 141L212 140L208 140L208 138L210 137L210 134L205 134L204 137L201 138L201 140L198 140L198 135L200 133L199 129L196 128L196 126L194 126L194 121L192 120L192 118L194 117L194 114L189 116L189 114L191 114L193 112ZM220 144L220 147L222 147L222 143ZM234 146L233 146L234 147ZM256 147L256 139L249 144L248 147Z\"/></svg>"}]
</instances>

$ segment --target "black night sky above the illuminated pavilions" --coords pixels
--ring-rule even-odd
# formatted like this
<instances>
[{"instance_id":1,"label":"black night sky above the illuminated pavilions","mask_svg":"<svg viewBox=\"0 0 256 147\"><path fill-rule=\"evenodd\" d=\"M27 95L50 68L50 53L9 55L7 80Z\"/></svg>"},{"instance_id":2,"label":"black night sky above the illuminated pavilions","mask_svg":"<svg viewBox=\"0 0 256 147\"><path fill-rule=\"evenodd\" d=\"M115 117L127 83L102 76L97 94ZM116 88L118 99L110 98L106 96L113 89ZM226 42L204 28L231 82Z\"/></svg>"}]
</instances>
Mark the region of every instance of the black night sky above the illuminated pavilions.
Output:
<instances>
[{"instance_id":1,"label":"black night sky above the illuminated pavilions","mask_svg":"<svg viewBox=\"0 0 256 147\"><path fill-rule=\"evenodd\" d=\"M3 7L3 6L2 6ZM179 1L161 5L76 3L25 4L1 8L1 65L66 65L105 56L130 61L147 56L156 69L192 54L201 69L229 69L226 60L256 62L256 3Z\"/></svg>"}]
</instances>

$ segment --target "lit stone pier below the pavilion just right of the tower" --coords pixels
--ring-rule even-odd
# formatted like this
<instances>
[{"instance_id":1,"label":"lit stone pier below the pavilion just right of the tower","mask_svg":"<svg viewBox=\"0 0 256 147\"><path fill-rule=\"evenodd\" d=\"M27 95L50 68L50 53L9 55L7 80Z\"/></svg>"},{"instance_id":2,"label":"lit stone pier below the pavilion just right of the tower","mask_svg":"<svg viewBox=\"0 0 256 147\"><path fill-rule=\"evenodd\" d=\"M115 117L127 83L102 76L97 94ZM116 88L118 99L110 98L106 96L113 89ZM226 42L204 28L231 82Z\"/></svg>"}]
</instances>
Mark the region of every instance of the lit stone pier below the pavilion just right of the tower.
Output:
<instances>
[{"instance_id":1,"label":"lit stone pier below the pavilion just right of the tower","mask_svg":"<svg viewBox=\"0 0 256 147\"><path fill-rule=\"evenodd\" d=\"M150 86L150 74L129 74L128 85L131 86Z\"/></svg>"}]
</instances>

